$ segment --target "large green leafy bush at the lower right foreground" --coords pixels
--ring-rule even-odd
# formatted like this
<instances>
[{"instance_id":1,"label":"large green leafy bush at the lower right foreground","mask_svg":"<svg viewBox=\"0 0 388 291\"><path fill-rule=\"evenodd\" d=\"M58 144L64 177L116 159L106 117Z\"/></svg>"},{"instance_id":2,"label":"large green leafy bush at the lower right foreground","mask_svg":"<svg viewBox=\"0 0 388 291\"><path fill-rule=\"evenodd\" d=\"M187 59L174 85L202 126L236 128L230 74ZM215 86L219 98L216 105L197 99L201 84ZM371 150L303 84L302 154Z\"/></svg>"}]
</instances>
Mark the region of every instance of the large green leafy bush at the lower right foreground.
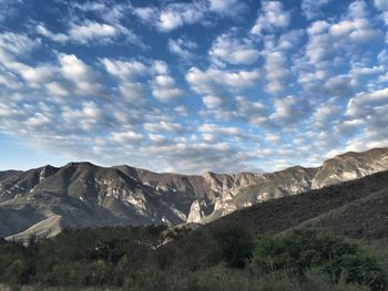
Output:
<instances>
[{"instance_id":1,"label":"large green leafy bush at the lower right foreground","mask_svg":"<svg viewBox=\"0 0 388 291\"><path fill-rule=\"evenodd\" d=\"M282 237L259 240L253 253L251 270L265 274L287 270L304 276L320 268L331 282L355 282L371 290L385 290L387 279L378 260L343 237L317 230L296 230Z\"/></svg>"}]
</instances>

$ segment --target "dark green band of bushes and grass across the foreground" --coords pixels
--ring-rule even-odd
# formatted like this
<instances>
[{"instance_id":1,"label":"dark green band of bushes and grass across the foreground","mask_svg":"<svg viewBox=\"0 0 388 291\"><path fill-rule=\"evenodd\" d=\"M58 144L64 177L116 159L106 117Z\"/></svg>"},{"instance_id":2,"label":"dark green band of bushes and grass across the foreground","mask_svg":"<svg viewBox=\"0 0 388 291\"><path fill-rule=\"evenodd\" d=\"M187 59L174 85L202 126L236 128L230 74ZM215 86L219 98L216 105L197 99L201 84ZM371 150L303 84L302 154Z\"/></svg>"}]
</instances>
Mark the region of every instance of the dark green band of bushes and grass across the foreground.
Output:
<instances>
[{"instance_id":1,"label":"dark green band of bushes and grass across the foreground","mask_svg":"<svg viewBox=\"0 0 388 291\"><path fill-rule=\"evenodd\" d=\"M110 290L387 290L387 257L330 232L256 238L216 229L186 251L163 227L65 230L28 247L0 242L0 281L12 287ZM175 233L176 236L176 233ZM178 233L176 241L180 240ZM112 289L113 288L113 289ZM115 288L115 289L114 289Z\"/></svg>"}]
</instances>

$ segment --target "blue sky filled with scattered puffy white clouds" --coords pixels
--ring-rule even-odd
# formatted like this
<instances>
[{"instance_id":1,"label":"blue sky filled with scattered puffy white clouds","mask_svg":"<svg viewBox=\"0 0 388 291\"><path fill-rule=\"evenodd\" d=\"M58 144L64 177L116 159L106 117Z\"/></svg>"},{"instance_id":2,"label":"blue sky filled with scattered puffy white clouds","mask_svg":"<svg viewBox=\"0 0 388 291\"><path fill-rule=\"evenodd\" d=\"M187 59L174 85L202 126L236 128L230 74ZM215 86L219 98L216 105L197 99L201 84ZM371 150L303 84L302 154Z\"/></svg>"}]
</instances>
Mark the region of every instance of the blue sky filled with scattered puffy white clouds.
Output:
<instances>
[{"instance_id":1,"label":"blue sky filled with scattered puffy white clouds","mask_svg":"<svg viewBox=\"0 0 388 291\"><path fill-rule=\"evenodd\" d=\"M0 0L0 169L201 174L388 146L387 0Z\"/></svg>"}]
</instances>

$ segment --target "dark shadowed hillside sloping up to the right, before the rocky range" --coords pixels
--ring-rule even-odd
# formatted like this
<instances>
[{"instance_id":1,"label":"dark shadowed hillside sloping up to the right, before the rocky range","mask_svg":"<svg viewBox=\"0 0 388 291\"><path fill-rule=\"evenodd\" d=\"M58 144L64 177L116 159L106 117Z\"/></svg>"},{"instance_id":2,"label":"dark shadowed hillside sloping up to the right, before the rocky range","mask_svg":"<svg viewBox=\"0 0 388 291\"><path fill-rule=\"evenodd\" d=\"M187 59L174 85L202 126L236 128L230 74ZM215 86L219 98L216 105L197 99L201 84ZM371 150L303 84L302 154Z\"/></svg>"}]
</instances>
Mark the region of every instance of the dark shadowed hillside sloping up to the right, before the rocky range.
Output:
<instances>
[{"instance_id":1,"label":"dark shadowed hillside sloping up to the right, before the rocky range","mask_svg":"<svg viewBox=\"0 0 388 291\"><path fill-rule=\"evenodd\" d=\"M234 224L245 226L255 235L276 235L292 228L314 226L353 237L365 237L369 232L369 237L388 238L388 172L267 200L229 214L206 227Z\"/></svg>"}]
</instances>

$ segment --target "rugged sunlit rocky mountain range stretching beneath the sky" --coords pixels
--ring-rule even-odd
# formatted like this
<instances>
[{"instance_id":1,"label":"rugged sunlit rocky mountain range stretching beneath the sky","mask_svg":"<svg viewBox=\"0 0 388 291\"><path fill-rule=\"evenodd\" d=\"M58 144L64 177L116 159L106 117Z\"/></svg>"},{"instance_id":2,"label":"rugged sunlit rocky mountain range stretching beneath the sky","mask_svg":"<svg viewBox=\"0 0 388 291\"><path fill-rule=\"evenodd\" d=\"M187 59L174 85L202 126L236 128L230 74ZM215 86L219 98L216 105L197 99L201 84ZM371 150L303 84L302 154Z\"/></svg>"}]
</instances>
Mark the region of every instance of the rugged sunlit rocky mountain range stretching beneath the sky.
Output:
<instances>
[{"instance_id":1,"label":"rugged sunlit rocky mountain range stretching beneath the sky","mask_svg":"<svg viewBox=\"0 0 388 291\"><path fill-rule=\"evenodd\" d=\"M320 167L272 174L157 174L90 163L0 172L0 237L63 228L210 222L258 202L388 169L388 148L346 153Z\"/></svg>"}]
</instances>

